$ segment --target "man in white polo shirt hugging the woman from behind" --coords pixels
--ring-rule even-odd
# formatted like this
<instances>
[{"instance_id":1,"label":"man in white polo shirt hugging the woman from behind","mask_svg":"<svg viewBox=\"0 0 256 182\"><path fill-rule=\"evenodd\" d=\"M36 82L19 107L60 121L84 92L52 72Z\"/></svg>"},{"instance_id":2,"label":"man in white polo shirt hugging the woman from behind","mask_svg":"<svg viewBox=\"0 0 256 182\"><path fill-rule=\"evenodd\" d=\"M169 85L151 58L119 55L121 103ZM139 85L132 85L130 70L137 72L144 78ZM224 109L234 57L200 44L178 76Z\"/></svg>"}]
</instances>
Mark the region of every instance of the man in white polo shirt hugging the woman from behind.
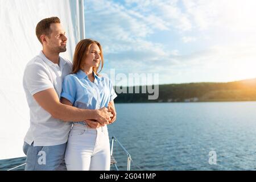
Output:
<instances>
[{"instance_id":1,"label":"man in white polo shirt hugging the woman from behind","mask_svg":"<svg viewBox=\"0 0 256 182\"><path fill-rule=\"evenodd\" d=\"M24 138L27 155L25 170L57 170L64 160L71 122L97 120L101 125L112 121L106 107L99 110L78 109L59 101L64 76L72 64L59 56L66 51L67 37L60 19L51 17L36 26L36 36L43 46L38 56L26 65L23 88L30 107L30 128ZM67 121L67 122L65 122Z\"/></svg>"}]
</instances>

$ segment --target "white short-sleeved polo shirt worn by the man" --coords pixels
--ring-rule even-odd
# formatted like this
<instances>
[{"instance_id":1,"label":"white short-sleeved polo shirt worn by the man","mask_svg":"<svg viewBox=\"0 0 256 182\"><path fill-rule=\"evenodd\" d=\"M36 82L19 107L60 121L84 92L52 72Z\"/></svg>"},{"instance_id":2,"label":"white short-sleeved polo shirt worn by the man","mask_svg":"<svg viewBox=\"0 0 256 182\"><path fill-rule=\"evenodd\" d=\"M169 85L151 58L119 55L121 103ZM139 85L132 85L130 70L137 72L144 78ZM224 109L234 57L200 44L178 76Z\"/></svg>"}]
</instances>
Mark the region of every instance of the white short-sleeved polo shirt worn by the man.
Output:
<instances>
[{"instance_id":1,"label":"white short-sleeved polo shirt worn by the man","mask_svg":"<svg viewBox=\"0 0 256 182\"><path fill-rule=\"evenodd\" d=\"M42 51L26 65L23 88L30 107L30 128L24 141L28 144L54 146L68 140L71 122L53 118L33 97L35 93L53 88L60 98L63 78L71 73L72 63L60 57L59 65L48 60Z\"/></svg>"}]
</instances>

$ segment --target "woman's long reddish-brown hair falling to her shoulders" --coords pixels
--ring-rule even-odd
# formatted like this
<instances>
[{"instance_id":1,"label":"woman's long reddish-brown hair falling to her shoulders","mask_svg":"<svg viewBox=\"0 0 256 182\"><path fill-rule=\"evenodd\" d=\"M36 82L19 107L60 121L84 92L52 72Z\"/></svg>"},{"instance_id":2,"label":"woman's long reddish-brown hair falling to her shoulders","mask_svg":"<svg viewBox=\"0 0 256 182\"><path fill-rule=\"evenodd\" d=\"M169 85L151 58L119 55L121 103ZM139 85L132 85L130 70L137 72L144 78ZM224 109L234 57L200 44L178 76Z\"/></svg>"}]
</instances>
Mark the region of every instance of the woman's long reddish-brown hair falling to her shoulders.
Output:
<instances>
[{"instance_id":1,"label":"woman's long reddish-brown hair falling to her shoulders","mask_svg":"<svg viewBox=\"0 0 256 182\"><path fill-rule=\"evenodd\" d=\"M82 64L84 63L84 60L86 59L86 57L89 55L89 50L90 50L90 46L92 46L92 44L97 44L97 46L100 48L100 56L101 56L101 70L103 68L104 65L104 58L103 58L103 52L102 52L102 47L101 44L99 42L97 42L96 40L92 40L92 39L83 39L81 40L77 45L76 45L76 49L75 49L75 53L74 53L74 57L73 57L73 67L72 67L72 73L77 73L81 67ZM101 72L101 70L99 72ZM98 75L98 67L95 68L93 67L93 71L94 73L96 73L96 75Z\"/></svg>"}]
</instances>

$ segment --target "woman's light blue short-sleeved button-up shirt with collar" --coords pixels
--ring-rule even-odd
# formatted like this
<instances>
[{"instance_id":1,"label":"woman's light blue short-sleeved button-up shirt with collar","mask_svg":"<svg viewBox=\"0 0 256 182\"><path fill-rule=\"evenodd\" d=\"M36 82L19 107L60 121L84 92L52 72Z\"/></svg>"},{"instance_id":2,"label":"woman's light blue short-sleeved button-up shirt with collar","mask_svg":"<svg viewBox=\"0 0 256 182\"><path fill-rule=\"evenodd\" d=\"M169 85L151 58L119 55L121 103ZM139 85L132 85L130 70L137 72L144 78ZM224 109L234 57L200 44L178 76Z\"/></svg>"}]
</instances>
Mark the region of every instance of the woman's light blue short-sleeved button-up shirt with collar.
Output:
<instances>
[{"instance_id":1,"label":"woman's light blue short-sleeved button-up shirt with collar","mask_svg":"<svg viewBox=\"0 0 256 182\"><path fill-rule=\"evenodd\" d=\"M64 77L61 97L69 100L80 109L100 109L108 107L117 94L108 77L99 77L94 72L94 82L81 69L79 72ZM85 125L84 122L76 122Z\"/></svg>"}]
</instances>

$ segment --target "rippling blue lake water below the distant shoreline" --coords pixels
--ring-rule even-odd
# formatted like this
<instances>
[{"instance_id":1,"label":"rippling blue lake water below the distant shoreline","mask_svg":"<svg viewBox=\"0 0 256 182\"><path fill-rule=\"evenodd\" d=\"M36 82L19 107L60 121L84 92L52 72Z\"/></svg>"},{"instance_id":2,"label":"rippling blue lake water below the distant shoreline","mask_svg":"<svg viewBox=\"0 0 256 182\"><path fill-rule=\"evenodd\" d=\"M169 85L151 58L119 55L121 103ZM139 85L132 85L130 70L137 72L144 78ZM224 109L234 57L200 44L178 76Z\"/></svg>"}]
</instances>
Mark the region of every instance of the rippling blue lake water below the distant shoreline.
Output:
<instances>
[{"instance_id":1,"label":"rippling blue lake water below the distant shoreline","mask_svg":"<svg viewBox=\"0 0 256 182\"><path fill-rule=\"evenodd\" d=\"M130 152L133 170L255 170L256 102L116 104L109 126ZM209 152L216 164L209 164ZM114 143L119 169L127 156ZM212 159L212 158L211 158ZM0 162L9 168L24 159Z\"/></svg>"}]
</instances>

